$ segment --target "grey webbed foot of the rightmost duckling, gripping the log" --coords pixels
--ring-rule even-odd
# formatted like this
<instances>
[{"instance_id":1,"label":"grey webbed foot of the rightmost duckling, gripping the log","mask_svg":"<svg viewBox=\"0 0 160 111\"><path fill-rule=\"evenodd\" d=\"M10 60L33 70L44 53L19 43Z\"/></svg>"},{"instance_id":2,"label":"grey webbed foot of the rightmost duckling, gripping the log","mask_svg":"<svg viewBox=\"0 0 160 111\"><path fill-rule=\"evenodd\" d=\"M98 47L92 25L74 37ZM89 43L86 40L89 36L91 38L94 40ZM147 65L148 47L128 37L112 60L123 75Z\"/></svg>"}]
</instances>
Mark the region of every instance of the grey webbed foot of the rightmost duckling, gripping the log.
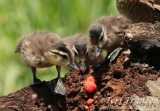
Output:
<instances>
[{"instance_id":1,"label":"grey webbed foot of the rightmost duckling, gripping the log","mask_svg":"<svg viewBox=\"0 0 160 111\"><path fill-rule=\"evenodd\" d=\"M118 54L120 53L121 50L122 50L121 47L116 48L112 53L109 54L108 58L106 58L105 61L108 61L108 60L110 62L114 61L115 58L118 56Z\"/></svg>"}]
</instances>

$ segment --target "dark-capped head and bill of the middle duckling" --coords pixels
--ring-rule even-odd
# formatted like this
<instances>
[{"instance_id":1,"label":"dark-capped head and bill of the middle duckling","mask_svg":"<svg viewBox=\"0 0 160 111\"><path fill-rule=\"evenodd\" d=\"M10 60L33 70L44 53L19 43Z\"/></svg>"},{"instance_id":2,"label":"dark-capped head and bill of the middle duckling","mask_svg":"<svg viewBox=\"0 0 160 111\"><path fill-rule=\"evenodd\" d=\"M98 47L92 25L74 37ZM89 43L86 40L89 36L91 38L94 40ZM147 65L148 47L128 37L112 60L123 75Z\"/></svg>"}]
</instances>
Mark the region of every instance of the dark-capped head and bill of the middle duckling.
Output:
<instances>
[{"instance_id":1,"label":"dark-capped head and bill of the middle duckling","mask_svg":"<svg viewBox=\"0 0 160 111\"><path fill-rule=\"evenodd\" d=\"M82 41L76 41L72 47L75 61L78 63L80 70L84 73L86 71L85 59L88 53L87 44Z\"/></svg>"}]
</instances>

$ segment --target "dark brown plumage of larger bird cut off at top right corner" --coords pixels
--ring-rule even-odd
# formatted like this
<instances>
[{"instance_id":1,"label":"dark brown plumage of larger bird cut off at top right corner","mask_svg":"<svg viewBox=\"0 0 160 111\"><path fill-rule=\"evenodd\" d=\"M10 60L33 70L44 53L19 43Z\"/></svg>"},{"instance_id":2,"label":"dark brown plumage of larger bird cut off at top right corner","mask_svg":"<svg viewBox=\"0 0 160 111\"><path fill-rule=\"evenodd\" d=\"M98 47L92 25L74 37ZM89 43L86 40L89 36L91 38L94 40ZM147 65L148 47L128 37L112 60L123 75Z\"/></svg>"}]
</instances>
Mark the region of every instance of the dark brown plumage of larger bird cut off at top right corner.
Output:
<instances>
[{"instance_id":1,"label":"dark brown plumage of larger bird cut off at top right corner","mask_svg":"<svg viewBox=\"0 0 160 111\"><path fill-rule=\"evenodd\" d=\"M160 21L159 0L117 0L117 9L133 22Z\"/></svg>"}]
</instances>

